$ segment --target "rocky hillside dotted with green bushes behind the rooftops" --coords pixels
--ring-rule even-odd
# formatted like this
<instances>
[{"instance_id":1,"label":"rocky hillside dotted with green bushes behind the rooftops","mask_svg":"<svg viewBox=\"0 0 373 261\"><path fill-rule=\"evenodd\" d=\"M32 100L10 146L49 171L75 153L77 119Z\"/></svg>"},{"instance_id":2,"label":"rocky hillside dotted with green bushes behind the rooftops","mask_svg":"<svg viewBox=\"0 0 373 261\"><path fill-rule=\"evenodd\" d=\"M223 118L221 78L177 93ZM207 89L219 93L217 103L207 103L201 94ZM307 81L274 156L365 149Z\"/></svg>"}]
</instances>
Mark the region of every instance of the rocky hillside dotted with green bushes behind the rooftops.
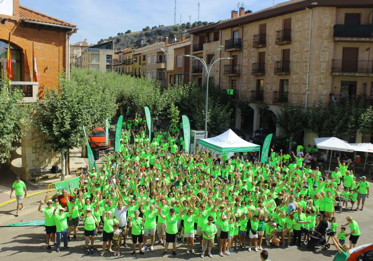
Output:
<instances>
[{"instance_id":1,"label":"rocky hillside dotted with green bushes behind the rooftops","mask_svg":"<svg viewBox=\"0 0 373 261\"><path fill-rule=\"evenodd\" d=\"M160 25L153 27L145 27L142 31L131 32L130 30L125 33L120 32L116 36L109 37L107 39L101 39L98 43L102 43L107 40L114 40L115 50L122 50L124 48L140 48L149 44L158 43L164 41L166 36L169 37L169 43L174 43L175 36L180 41L181 35L185 34L185 39L190 38L189 29L194 29L199 26L207 25L213 22L194 22L192 24L182 23L181 25Z\"/></svg>"}]
</instances>

